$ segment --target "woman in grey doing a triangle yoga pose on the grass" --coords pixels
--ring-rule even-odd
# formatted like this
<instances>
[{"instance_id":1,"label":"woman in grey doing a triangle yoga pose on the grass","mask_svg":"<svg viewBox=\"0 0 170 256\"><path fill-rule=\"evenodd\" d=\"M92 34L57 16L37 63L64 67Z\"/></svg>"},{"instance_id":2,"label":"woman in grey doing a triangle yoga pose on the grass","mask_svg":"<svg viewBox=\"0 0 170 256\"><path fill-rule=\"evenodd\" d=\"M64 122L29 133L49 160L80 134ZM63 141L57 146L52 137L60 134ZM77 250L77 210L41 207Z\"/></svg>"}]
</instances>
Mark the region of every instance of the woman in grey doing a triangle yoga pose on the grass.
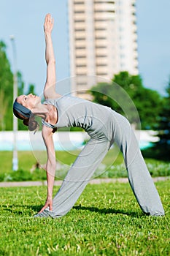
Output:
<instances>
[{"instance_id":1,"label":"woman in grey doing a triangle yoga pose on the grass","mask_svg":"<svg viewBox=\"0 0 170 256\"><path fill-rule=\"evenodd\" d=\"M117 143L125 160L131 189L145 214L164 215L163 206L141 151L127 119L114 110L77 97L62 97L55 92L55 57L51 32L53 19L45 17L45 59L47 80L44 104L40 97L19 96L13 105L15 116L23 119L30 130L37 127L34 116L42 117L42 137L47 148L47 200L35 217L62 217L74 206L83 189L112 143ZM53 85L53 86L52 86ZM59 127L82 127L90 140L70 168L58 193L53 199L55 177L55 148L53 133Z\"/></svg>"}]
</instances>

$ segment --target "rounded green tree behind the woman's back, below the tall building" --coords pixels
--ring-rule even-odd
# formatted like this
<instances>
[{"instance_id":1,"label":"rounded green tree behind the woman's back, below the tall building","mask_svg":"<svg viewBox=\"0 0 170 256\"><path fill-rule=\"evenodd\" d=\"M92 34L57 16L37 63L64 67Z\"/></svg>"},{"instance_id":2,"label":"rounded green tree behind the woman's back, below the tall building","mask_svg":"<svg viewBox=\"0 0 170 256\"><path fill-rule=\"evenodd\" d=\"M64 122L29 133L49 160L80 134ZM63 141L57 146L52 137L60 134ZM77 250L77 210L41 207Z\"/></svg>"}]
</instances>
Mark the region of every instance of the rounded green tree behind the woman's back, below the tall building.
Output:
<instances>
[{"instance_id":1,"label":"rounded green tree behind the woman's back, below the tall building","mask_svg":"<svg viewBox=\"0 0 170 256\"><path fill-rule=\"evenodd\" d=\"M144 88L140 75L120 72L111 83L98 83L90 93L95 102L107 105L124 116L128 113L126 117L131 124L139 123L136 115L138 112L142 129L152 129L156 126L162 98L157 91Z\"/></svg>"}]
</instances>

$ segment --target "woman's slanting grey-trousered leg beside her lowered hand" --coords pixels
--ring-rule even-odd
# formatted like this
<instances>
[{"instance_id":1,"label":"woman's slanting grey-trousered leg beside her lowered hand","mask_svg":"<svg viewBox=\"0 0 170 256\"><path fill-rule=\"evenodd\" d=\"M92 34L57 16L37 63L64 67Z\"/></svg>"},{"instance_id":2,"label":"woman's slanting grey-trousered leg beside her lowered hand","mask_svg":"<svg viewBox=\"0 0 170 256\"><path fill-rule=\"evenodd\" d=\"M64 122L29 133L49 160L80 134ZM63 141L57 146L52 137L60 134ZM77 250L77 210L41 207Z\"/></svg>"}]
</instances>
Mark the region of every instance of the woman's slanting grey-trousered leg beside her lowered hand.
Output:
<instances>
[{"instance_id":1,"label":"woman's slanting grey-trousered leg beside her lowered hand","mask_svg":"<svg viewBox=\"0 0 170 256\"><path fill-rule=\"evenodd\" d=\"M71 169L64 178L63 184L53 198L53 211L45 209L35 217L62 217L76 203L88 184L98 165L109 150L110 142L106 138L90 139L80 152Z\"/></svg>"}]
</instances>

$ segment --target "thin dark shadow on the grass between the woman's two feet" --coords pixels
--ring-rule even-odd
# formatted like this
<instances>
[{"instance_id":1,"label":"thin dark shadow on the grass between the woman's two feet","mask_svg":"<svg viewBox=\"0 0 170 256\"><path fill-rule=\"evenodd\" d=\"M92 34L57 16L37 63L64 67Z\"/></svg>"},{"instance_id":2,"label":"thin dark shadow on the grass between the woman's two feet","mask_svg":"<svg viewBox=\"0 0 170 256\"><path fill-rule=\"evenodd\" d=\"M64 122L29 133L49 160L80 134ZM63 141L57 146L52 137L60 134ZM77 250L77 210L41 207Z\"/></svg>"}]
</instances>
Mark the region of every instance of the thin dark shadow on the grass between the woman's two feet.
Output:
<instances>
[{"instance_id":1,"label":"thin dark shadow on the grass between the woman's two feet","mask_svg":"<svg viewBox=\"0 0 170 256\"><path fill-rule=\"evenodd\" d=\"M139 213L136 211L130 211L130 210L124 211L123 209L113 209L113 208L97 208L93 206L92 207L73 206L73 209L98 212L99 214L125 214L131 217L139 217L143 215L143 213Z\"/></svg>"}]
</instances>

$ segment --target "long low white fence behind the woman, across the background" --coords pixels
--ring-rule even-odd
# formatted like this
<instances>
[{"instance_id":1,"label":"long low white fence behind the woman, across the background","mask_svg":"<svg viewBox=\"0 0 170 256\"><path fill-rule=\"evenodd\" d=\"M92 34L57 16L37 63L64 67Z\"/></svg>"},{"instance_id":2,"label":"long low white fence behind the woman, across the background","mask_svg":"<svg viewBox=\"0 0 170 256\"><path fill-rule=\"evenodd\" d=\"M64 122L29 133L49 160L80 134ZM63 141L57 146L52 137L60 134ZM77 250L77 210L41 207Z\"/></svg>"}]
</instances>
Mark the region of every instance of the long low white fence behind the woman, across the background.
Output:
<instances>
[{"instance_id":1,"label":"long low white fence behind the woman, across the background","mask_svg":"<svg viewBox=\"0 0 170 256\"><path fill-rule=\"evenodd\" d=\"M135 131L140 148L145 148L150 143L158 140L156 132L152 130ZM72 150L82 148L85 140L88 140L86 132L55 132L53 140L55 150ZM14 143L14 133L0 132L0 151L12 151ZM45 143L42 140L41 132L18 131L16 133L16 145L18 151L45 150Z\"/></svg>"}]
</instances>

